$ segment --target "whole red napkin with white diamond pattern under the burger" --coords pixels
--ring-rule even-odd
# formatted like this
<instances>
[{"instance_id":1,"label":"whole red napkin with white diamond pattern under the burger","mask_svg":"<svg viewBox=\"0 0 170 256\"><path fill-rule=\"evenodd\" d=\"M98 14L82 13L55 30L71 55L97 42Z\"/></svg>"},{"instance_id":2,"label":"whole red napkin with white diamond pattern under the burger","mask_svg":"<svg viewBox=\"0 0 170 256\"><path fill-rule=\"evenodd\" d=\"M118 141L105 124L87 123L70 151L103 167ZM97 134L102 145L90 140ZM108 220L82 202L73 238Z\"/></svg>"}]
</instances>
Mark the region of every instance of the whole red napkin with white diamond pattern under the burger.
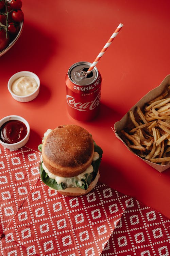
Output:
<instances>
[{"instance_id":1,"label":"whole red napkin with white diamond pattern under the burger","mask_svg":"<svg viewBox=\"0 0 170 256\"><path fill-rule=\"evenodd\" d=\"M104 184L65 197L39 178L40 153L0 146L1 256L170 255L170 220Z\"/></svg>"}]
</instances>

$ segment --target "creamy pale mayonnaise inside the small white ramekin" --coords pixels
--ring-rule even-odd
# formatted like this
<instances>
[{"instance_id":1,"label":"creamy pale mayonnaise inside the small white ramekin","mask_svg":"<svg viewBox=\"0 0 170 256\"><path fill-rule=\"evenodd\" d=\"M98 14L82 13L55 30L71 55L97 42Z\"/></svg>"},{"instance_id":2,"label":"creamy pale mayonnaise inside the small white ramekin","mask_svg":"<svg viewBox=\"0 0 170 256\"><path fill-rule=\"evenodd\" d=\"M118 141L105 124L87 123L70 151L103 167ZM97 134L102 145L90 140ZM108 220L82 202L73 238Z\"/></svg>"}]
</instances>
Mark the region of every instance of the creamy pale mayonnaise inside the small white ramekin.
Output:
<instances>
[{"instance_id":1,"label":"creamy pale mayonnaise inside the small white ramekin","mask_svg":"<svg viewBox=\"0 0 170 256\"><path fill-rule=\"evenodd\" d=\"M15 80L11 86L11 90L18 96L26 96L33 93L37 88L37 82L33 77L21 76Z\"/></svg>"}]
</instances>

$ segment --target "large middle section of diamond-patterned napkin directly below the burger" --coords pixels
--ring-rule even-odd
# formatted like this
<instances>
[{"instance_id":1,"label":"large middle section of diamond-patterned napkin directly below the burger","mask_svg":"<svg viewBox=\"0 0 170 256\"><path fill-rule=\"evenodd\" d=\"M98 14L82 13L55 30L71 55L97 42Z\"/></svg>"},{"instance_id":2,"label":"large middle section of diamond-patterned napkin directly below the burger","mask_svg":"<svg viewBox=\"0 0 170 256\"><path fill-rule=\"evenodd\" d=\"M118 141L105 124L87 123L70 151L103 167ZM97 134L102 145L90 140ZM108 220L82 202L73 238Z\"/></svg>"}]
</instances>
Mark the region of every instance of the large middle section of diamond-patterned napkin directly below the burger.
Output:
<instances>
[{"instance_id":1,"label":"large middle section of diamond-patterned napkin directly below the burger","mask_svg":"<svg viewBox=\"0 0 170 256\"><path fill-rule=\"evenodd\" d=\"M111 191L98 185L86 196L70 198L39 179L7 225L1 240L4 255L14 244L20 245L17 255L23 247L31 250L28 255L100 255L128 198Z\"/></svg>"}]
</instances>

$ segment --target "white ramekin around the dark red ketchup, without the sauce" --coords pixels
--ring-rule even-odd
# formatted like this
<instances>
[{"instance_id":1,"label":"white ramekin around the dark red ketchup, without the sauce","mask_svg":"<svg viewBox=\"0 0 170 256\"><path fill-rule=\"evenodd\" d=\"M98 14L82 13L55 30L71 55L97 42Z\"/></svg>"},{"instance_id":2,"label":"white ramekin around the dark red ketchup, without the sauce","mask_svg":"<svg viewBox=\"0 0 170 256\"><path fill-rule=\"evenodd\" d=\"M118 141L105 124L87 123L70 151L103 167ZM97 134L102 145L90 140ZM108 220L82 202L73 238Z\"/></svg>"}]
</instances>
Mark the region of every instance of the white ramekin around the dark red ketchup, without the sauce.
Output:
<instances>
[{"instance_id":1,"label":"white ramekin around the dark red ketchup, without the sauce","mask_svg":"<svg viewBox=\"0 0 170 256\"><path fill-rule=\"evenodd\" d=\"M29 137L30 137L30 125L29 123L27 122L26 119L24 119L23 117L21 116L16 116L16 115L11 115L11 116L5 116L4 118L2 118L0 120L0 127L6 123L7 121L9 120L19 120L21 122L23 122L26 127L27 127L27 134L26 134L26 137L24 137L21 141L17 142L17 143L12 143L12 144L8 144L8 143L5 143L3 142L1 139L0 139L0 144L5 147L5 148L8 148L10 150L16 150L20 147L23 147L29 140Z\"/></svg>"}]
</instances>

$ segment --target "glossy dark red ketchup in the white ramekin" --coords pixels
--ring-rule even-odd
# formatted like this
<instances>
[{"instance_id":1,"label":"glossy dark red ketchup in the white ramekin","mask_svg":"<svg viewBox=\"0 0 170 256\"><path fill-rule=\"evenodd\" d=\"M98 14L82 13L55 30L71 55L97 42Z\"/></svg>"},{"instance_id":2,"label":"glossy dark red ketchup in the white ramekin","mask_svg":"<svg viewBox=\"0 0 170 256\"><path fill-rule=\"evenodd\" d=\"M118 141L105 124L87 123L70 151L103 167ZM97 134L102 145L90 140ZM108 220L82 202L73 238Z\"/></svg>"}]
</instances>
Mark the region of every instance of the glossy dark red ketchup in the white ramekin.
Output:
<instances>
[{"instance_id":1,"label":"glossy dark red ketchup in the white ramekin","mask_svg":"<svg viewBox=\"0 0 170 256\"><path fill-rule=\"evenodd\" d=\"M8 144L21 141L27 135L26 125L19 120L10 120L0 128L0 139Z\"/></svg>"}]
</instances>

